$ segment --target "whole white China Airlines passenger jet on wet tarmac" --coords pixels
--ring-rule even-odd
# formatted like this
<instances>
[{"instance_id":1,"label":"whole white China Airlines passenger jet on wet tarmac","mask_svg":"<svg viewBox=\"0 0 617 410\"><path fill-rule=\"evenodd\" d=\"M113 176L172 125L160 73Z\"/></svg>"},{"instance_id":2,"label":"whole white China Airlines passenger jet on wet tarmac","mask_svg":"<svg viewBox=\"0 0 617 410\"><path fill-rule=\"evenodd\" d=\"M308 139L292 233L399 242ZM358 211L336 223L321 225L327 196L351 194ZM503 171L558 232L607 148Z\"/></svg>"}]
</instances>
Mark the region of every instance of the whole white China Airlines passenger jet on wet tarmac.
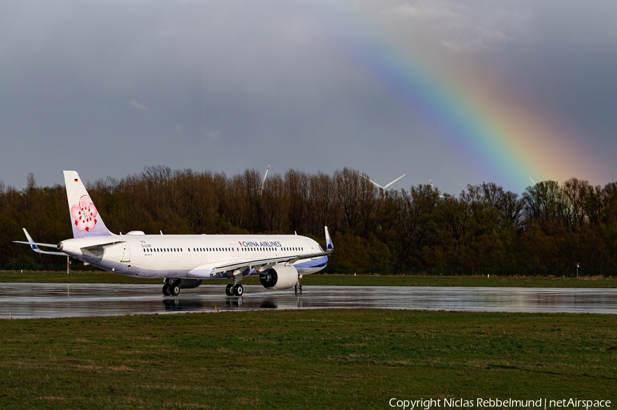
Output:
<instances>
[{"instance_id":1,"label":"whole white China Airlines passenger jet on wet tarmac","mask_svg":"<svg viewBox=\"0 0 617 410\"><path fill-rule=\"evenodd\" d=\"M204 279L221 278L234 281L226 286L228 296L242 296L239 282L248 276L258 276L269 290L295 286L296 292L302 291L302 275L325 268L334 250L328 227L324 227L326 251L301 235L146 235L143 231L116 235L105 226L77 172L64 171L64 183L73 239L38 243L24 229L28 241L13 242L125 276L163 278L165 296L178 296L180 289L197 287Z\"/></svg>"}]
</instances>

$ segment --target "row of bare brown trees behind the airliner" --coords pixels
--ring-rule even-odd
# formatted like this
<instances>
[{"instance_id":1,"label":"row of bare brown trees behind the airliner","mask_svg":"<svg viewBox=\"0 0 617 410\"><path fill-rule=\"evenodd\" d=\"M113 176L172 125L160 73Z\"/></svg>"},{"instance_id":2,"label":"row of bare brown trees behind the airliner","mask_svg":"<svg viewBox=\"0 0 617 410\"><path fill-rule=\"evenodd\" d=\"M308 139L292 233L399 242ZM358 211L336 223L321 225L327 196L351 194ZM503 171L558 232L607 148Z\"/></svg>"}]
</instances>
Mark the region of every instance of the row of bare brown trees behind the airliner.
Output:
<instances>
[{"instance_id":1,"label":"row of bare brown trees behind the airliner","mask_svg":"<svg viewBox=\"0 0 617 410\"><path fill-rule=\"evenodd\" d=\"M617 266L617 184L572 178L543 181L522 194L495 183L467 185L458 196L431 185L383 194L343 168L332 175L257 170L232 177L209 170L146 166L121 180L86 185L112 232L298 233L335 242L332 266ZM53 262L24 240L72 238L63 185L34 175L16 190L0 181L0 261Z\"/></svg>"}]
</instances>

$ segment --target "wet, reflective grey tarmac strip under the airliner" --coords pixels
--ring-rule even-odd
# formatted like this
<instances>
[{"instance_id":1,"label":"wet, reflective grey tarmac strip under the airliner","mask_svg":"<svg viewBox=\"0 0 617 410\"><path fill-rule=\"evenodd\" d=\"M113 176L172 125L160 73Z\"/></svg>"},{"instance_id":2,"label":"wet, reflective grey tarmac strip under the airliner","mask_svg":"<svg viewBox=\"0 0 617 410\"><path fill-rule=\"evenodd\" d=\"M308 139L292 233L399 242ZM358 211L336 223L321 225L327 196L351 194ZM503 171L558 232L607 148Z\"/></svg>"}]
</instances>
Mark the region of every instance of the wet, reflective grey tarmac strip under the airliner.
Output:
<instances>
[{"instance_id":1,"label":"wet, reflective grey tarmac strip under the airliner","mask_svg":"<svg viewBox=\"0 0 617 410\"><path fill-rule=\"evenodd\" d=\"M617 289L305 285L295 294L245 285L244 292L226 296L222 285L202 285L169 297L159 284L3 283L0 318L317 308L617 313Z\"/></svg>"}]
</instances>

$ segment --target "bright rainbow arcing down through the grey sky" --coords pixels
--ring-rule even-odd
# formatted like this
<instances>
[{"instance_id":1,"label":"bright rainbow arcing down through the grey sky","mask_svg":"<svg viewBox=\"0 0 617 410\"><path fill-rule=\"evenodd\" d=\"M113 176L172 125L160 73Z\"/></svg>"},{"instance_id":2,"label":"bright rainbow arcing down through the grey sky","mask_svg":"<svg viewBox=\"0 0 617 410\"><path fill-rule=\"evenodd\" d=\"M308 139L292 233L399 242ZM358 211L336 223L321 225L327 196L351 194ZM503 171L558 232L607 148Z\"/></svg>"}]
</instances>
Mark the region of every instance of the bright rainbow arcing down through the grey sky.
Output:
<instances>
[{"instance_id":1,"label":"bright rainbow arcing down through the grey sky","mask_svg":"<svg viewBox=\"0 0 617 410\"><path fill-rule=\"evenodd\" d=\"M598 179L590 171L598 158L570 128L537 107L533 96L492 81L472 64L449 68L455 64L410 52L359 14L345 13L348 24L332 28L337 58L383 84L485 181L522 192L531 185L527 175L536 181Z\"/></svg>"}]
</instances>

